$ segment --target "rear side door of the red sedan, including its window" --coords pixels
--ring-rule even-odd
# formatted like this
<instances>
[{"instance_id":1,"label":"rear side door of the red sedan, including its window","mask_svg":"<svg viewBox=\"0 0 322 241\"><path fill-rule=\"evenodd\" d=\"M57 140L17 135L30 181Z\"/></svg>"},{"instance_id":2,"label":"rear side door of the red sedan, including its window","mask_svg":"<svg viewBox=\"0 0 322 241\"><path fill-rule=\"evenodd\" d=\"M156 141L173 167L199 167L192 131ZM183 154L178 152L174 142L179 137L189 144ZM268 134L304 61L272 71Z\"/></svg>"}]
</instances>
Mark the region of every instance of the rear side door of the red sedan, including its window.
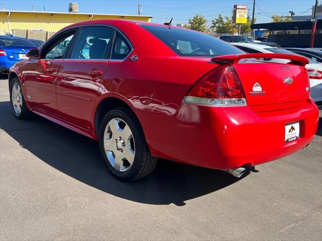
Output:
<instances>
[{"instance_id":1,"label":"rear side door of the red sedan, including its window","mask_svg":"<svg viewBox=\"0 0 322 241\"><path fill-rule=\"evenodd\" d=\"M57 103L61 117L89 129L93 106L110 58L115 30L84 27L60 64Z\"/></svg>"}]
</instances>

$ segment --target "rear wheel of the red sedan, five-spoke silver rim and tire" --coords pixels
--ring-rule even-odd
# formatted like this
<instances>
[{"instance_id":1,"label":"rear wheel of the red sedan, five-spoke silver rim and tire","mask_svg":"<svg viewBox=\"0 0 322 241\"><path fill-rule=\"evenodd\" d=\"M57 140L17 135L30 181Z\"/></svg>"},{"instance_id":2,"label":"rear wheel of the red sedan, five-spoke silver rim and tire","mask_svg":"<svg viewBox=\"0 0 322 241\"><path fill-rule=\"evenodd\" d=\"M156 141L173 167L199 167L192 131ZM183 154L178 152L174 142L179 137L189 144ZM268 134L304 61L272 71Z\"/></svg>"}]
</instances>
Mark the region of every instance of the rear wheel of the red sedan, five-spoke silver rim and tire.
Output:
<instances>
[{"instance_id":1,"label":"rear wheel of the red sedan, five-spoke silver rim and tire","mask_svg":"<svg viewBox=\"0 0 322 241\"><path fill-rule=\"evenodd\" d=\"M100 150L109 171L118 179L133 181L149 175L155 168L142 127L129 109L108 112L101 123Z\"/></svg>"}]
</instances>

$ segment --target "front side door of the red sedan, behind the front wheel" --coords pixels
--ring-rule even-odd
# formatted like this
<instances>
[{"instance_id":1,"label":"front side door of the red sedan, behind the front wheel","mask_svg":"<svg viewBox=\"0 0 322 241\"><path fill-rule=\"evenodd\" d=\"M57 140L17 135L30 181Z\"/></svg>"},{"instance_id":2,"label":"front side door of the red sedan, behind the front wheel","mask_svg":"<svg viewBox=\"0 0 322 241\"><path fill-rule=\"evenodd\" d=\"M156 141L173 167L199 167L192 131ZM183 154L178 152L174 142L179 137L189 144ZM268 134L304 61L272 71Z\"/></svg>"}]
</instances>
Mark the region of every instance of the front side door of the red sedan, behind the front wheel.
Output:
<instances>
[{"instance_id":1,"label":"front side door of the red sedan, behind the front wheel","mask_svg":"<svg viewBox=\"0 0 322 241\"><path fill-rule=\"evenodd\" d=\"M56 77L67 48L58 48L61 42L71 41L76 29L63 32L41 48L40 59L29 59L24 71L28 102L35 108L58 116Z\"/></svg>"}]
</instances>

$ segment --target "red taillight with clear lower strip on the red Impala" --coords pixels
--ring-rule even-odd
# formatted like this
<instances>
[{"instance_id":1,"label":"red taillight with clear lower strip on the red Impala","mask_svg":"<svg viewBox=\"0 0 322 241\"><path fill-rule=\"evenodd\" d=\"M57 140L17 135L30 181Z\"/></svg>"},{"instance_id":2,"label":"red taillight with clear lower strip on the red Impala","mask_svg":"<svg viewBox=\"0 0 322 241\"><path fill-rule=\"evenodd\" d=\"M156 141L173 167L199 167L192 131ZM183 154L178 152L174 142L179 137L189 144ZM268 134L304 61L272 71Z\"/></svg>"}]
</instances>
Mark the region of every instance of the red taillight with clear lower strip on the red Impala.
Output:
<instances>
[{"instance_id":1,"label":"red taillight with clear lower strip on the red Impala","mask_svg":"<svg viewBox=\"0 0 322 241\"><path fill-rule=\"evenodd\" d=\"M203 76L184 102L210 106L245 106L245 93L232 65L219 66Z\"/></svg>"}]
</instances>

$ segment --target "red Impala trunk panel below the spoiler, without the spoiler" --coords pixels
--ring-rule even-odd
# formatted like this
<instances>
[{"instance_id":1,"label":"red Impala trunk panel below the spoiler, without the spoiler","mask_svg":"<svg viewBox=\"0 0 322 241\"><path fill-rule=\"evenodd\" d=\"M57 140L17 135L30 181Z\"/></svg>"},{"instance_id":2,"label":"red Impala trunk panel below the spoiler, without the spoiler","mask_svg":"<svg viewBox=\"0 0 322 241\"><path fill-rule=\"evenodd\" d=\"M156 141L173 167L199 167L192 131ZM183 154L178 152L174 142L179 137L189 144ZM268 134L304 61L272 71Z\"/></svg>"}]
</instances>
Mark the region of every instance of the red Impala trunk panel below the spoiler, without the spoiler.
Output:
<instances>
[{"instance_id":1,"label":"red Impala trunk panel below the spoiler, without the spoiler","mask_svg":"<svg viewBox=\"0 0 322 241\"><path fill-rule=\"evenodd\" d=\"M234 67L244 88L248 105L296 102L309 97L308 75L302 66L243 63L234 64Z\"/></svg>"}]
</instances>

